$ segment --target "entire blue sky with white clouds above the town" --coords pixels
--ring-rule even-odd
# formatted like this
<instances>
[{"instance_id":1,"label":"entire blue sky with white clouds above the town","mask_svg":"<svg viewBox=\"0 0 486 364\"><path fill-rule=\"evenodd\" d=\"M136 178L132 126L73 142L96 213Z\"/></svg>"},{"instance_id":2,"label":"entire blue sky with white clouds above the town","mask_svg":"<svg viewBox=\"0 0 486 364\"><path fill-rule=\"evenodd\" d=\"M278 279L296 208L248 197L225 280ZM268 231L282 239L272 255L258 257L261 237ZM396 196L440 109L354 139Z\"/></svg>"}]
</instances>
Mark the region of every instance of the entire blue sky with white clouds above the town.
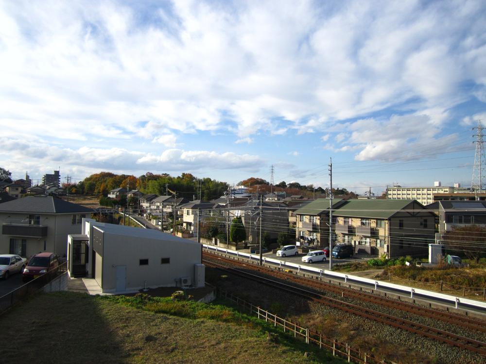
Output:
<instances>
[{"instance_id":1,"label":"entire blue sky with white clouds above the town","mask_svg":"<svg viewBox=\"0 0 486 364\"><path fill-rule=\"evenodd\" d=\"M481 0L5 0L0 166L470 186L485 60Z\"/></svg>"}]
</instances>

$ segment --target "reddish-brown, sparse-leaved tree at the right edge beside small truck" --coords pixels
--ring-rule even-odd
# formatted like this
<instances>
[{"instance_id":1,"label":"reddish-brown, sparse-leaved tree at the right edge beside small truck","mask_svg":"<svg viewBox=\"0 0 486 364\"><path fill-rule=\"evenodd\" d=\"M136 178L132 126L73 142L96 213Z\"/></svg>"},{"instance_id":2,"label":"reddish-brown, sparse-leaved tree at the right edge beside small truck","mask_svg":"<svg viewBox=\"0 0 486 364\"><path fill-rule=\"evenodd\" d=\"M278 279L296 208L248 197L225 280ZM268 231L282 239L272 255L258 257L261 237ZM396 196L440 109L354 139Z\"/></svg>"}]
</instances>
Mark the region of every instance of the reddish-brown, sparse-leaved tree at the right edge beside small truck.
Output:
<instances>
[{"instance_id":1,"label":"reddish-brown, sparse-leaved tree at the right edge beside small truck","mask_svg":"<svg viewBox=\"0 0 486 364\"><path fill-rule=\"evenodd\" d=\"M457 227L444 235L444 244L457 254L464 254L477 264L486 256L486 228L479 225ZM461 254L462 253L462 254Z\"/></svg>"}]
</instances>

